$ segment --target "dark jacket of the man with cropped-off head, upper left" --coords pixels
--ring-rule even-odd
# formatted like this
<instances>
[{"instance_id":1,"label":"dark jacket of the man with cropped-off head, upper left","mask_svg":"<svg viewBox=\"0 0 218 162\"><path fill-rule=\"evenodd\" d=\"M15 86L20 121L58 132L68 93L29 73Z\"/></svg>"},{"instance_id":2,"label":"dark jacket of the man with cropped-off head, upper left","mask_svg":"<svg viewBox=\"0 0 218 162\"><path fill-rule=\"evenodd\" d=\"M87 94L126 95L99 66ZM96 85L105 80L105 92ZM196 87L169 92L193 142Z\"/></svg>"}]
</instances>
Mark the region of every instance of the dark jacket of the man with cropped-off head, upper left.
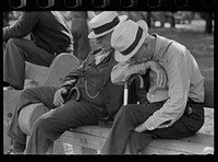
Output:
<instances>
[{"instance_id":1,"label":"dark jacket of the man with cropped-off head, upper left","mask_svg":"<svg viewBox=\"0 0 218 162\"><path fill-rule=\"evenodd\" d=\"M14 25L3 28L3 40L22 38L28 34L38 47L50 54L73 49L73 36L60 12L22 12Z\"/></svg>"}]
</instances>

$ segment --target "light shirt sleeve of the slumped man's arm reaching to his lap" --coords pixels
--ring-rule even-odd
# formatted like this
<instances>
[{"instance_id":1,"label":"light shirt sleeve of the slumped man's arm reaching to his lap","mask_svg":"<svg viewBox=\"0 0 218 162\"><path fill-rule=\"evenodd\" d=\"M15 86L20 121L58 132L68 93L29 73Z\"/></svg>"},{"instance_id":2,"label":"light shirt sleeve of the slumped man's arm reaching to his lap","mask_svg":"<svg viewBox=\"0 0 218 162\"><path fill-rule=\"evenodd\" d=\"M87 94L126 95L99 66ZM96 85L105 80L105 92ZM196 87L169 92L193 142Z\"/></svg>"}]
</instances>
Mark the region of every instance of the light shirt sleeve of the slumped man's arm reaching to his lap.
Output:
<instances>
[{"instance_id":1,"label":"light shirt sleeve of the slumped man's arm reaching to his lap","mask_svg":"<svg viewBox=\"0 0 218 162\"><path fill-rule=\"evenodd\" d=\"M184 113L190 91L190 68L185 54L179 50L170 54L166 62L166 72L169 81L169 99L164 106L156 111L144 123L148 130L171 126Z\"/></svg>"}]
</instances>

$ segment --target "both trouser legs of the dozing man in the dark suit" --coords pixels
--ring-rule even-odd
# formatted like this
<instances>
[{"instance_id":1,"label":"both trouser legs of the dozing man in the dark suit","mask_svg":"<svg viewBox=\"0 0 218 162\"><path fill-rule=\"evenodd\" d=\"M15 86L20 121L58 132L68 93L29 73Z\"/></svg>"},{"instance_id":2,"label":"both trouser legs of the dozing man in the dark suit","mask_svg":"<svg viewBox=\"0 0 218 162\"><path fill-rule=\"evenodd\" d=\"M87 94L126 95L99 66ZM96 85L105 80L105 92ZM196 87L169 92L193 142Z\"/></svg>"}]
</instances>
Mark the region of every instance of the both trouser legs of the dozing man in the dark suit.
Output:
<instances>
[{"instance_id":1,"label":"both trouser legs of the dozing man in the dark suit","mask_svg":"<svg viewBox=\"0 0 218 162\"><path fill-rule=\"evenodd\" d=\"M15 141L23 144L26 142L26 135L21 131L17 121L19 113L24 106L33 103L44 103L51 109L35 121L25 153L46 153L50 144L65 130L83 125L98 124L99 118L107 116L107 114L94 108L92 104L83 100L81 102L70 100L64 106L56 107L53 105L53 94L57 90L55 86L39 86L26 89L21 93L8 132Z\"/></svg>"}]
</instances>

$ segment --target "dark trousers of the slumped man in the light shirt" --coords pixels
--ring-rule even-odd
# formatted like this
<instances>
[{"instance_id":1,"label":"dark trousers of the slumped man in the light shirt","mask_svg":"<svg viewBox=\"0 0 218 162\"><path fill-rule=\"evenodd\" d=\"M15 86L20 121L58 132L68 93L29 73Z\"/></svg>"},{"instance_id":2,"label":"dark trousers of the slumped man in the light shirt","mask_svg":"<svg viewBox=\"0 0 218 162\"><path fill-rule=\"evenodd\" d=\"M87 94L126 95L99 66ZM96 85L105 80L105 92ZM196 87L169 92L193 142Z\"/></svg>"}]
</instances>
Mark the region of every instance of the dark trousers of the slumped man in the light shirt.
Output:
<instances>
[{"instance_id":1,"label":"dark trousers of the slumped man in the light shirt","mask_svg":"<svg viewBox=\"0 0 218 162\"><path fill-rule=\"evenodd\" d=\"M143 148L154 138L179 139L194 135L204 124L203 103L189 101L184 114L171 127L136 132L134 128L145 121L165 102L122 107L114 119L109 137L101 150L102 154L122 154L128 144L132 154L143 153ZM192 107L192 113L187 109Z\"/></svg>"}]
</instances>

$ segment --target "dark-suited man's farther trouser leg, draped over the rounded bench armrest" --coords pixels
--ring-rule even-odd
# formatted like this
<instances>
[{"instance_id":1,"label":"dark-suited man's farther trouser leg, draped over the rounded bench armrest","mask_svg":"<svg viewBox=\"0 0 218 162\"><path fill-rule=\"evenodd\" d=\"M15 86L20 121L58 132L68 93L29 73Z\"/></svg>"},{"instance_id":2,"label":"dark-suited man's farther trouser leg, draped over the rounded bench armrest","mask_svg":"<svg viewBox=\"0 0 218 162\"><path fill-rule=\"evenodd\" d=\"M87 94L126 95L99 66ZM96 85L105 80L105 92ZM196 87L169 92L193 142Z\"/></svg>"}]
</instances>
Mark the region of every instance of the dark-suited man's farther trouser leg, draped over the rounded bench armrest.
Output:
<instances>
[{"instance_id":1,"label":"dark-suited man's farther trouser leg, draped over the rounded bench armrest","mask_svg":"<svg viewBox=\"0 0 218 162\"><path fill-rule=\"evenodd\" d=\"M19 143L26 143L26 135L22 132L19 126L19 114L21 109L29 104L44 103L49 109L55 108L53 94L58 88L39 86L24 90L17 101L12 123L9 127L8 135Z\"/></svg>"}]
</instances>

